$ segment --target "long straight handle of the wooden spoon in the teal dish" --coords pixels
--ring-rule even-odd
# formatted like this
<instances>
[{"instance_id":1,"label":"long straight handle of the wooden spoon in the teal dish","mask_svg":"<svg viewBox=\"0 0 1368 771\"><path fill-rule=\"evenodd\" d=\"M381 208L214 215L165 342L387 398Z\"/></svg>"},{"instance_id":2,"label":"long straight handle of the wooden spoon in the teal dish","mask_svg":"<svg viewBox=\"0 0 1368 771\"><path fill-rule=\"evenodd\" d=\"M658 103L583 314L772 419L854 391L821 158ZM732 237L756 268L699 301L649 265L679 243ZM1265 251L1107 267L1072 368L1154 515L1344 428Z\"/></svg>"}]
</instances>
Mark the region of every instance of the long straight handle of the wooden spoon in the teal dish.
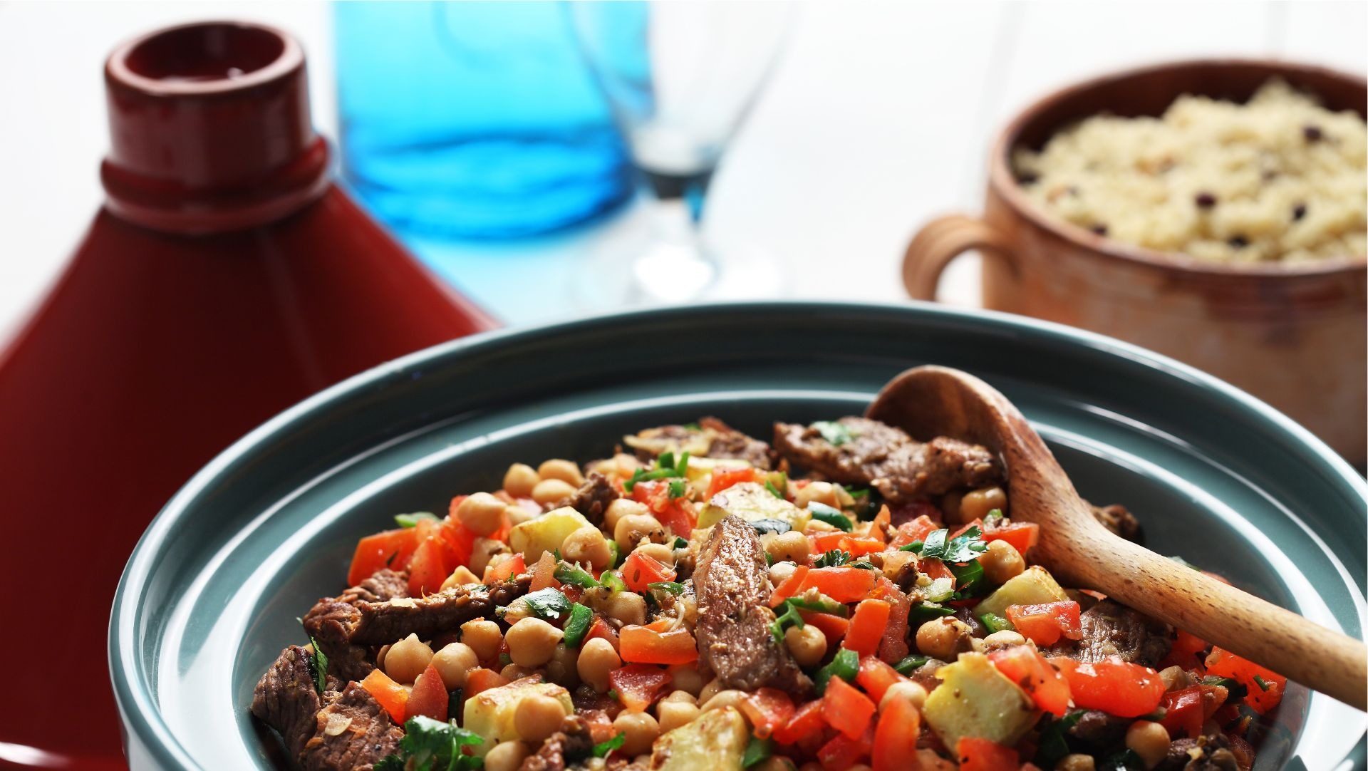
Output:
<instances>
[{"instance_id":1,"label":"long straight handle of the wooden spoon in the teal dish","mask_svg":"<svg viewBox=\"0 0 1368 771\"><path fill-rule=\"evenodd\" d=\"M1368 648L1103 528L1053 544L1066 585L1103 593L1263 664L1345 704L1368 709ZM1067 566L1067 567L1066 567Z\"/></svg>"}]
</instances>

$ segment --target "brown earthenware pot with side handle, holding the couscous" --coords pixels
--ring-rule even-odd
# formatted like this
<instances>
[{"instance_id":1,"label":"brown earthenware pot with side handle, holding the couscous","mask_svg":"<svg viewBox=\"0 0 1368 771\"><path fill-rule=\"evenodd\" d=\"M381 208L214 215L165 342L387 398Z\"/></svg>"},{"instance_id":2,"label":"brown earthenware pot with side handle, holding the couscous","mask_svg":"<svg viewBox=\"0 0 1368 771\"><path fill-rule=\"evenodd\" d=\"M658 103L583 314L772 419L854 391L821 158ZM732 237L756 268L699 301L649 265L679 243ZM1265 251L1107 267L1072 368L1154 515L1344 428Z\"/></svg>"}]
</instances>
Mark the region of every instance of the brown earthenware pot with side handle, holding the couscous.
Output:
<instances>
[{"instance_id":1,"label":"brown earthenware pot with side handle, holding the couscous","mask_svg":"<svg viewBox=\"0 0 1368 771\"><path fill-rule=\"evenodd\" d=\"M1112 335L1205 369L1272 403L1350 462L1365 461L1368 313L1363 254L1223 265L1129 246L1038 209L1010 153L1099 112L1160 115L1181 94L1244 101L1268 78L1364 113L1361 77L1280 62L1202 60L1103 77L1051 94L993 144L981 219L938 217L907 247L903 280L933 299L945 265L979 250L984 306Z\"/></svg>"}]
</instances>

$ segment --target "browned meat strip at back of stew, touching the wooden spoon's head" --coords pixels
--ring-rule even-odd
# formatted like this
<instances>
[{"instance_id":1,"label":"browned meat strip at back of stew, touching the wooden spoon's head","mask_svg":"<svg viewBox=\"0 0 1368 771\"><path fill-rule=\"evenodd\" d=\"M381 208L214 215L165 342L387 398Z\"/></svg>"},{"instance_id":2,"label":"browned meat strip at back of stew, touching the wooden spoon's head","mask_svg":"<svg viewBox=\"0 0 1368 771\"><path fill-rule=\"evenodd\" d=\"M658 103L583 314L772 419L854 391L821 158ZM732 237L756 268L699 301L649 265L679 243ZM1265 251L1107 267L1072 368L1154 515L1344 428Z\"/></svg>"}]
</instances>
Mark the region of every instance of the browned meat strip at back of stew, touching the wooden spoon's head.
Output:
<instances>
[{"instance_id":1,"label":"browned meat strip at back of stew, touching the wooden spoon's head","mask_svg":"<svg viewBox=\"0 0 1368 771\"><path fill-rule=\"evenodd\" d=\"M1001 466L978 444L945 436L923 444L902 429L860 417L836 422L848 435L839 444L818 428L777 422L774 447L795 466L834 483L871 485L889 503L1003 481Z\"/></svg>"}]
</instances>

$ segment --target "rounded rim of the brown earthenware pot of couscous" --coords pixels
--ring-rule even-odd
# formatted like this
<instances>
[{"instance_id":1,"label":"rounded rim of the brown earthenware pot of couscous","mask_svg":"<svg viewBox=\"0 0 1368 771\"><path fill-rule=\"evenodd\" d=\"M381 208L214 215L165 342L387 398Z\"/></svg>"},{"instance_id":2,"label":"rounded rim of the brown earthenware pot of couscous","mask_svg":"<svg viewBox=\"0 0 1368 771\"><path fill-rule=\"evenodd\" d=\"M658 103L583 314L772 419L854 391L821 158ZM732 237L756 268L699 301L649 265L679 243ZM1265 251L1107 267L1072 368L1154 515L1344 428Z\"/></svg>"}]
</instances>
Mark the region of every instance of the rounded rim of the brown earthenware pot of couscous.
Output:
<instances>
[{"instance_id":1,"label":"rounded rim of the brown earthenware pot of couscous","mask_svg":"<svg viewBox=\"0 0 1368 771\"><path fill-rule=\"evenodd\" d=\"M1349 257L1332 257L1326 260L1316 260L1308 262L1295 264L1280 264L1280 262L1260 262L1256 265L1237 265L1227 262L1209 262L1189 257L1182 253L1159 252L1153 249L1145 249L1142 246L1131 246L1122 243L1101 235L1097 235L1089 230L1078 227L1068 223L1060 217L1051 215L1049 212L1037 206L1026 193L1022 190L1021 185L1016 183L1015 175L1012 175L1008 159L1011 157L1012 148L1016 146L1016 138L1021 135L1022 130L1034 122L1047 108L1055 107L1062 103L1067 103L1074 98L1075 94L1092 90L1094 87L1103 86L1105 83L1112 83L1116 81L1126 81L1137 78L1141 75L1152 72L1163 72L1172 70L1185 70L1192 67L1228 67L1228 66L1256 66L1267 67L1270 70L1286 72L1286 74L1317 74L1328 78L1338 78L1350 85L1357 85L1360 89L1368 92L1368 82L1360 75L1350 72L1343 72L1339 70L1332 70L1330 67L1321 67L1317 64L1302 64L1297 62L1285 62L1279 59L1241 59L1241 57L1215 57L1215 59L1186 59L1179 62L1161 62L1155 64L1144 64L1140 67L1131 67L1126 70L1118 70L1107 72L1086 81L1079 81L1063 86L1049 94L1036 100L1029 107L1022 109L1007 123L1007 126L997 134L997 139L993 142L992 157L989 159L989 186L1003 197L1003 200L1012 206L1021 216L1030 220L1036 227L1048 231L1064 241L1073 242L1083 247L1088 253L1096 257L1123 260L1127 262L1159 268L1163 271L1178 271L1192 275L1200 275L1205 278L1223 278L1223 279L1300 279L1300 278L1320 278L1320 276L1335 276L1335 275L1352 275L1352 273L1368 273L1368 256L1349 256ZM1174 94L1176 98L1181 94Z\"/></svg>"}]
</instances>

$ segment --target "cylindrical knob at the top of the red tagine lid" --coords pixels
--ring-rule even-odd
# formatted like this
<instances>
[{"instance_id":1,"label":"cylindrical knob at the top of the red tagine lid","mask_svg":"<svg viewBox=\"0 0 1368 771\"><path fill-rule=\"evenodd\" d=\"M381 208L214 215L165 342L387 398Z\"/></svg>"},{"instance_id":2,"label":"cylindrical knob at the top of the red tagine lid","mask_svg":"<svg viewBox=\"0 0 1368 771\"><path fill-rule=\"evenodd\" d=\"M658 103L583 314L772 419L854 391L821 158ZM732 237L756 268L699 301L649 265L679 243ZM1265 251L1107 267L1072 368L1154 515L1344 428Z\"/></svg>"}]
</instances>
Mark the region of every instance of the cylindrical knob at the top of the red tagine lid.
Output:
<instances>
[{"instance_id":1,"label":"cylindrical knob at the top of the red tagine lid","mask_svg":"<svg viewBox=\"0 0 1368 771\"><path fill-rule=\"evenodd\" d=\"M104 68L108 208L144 227L201 234L280 219L328 186L309 120L304 51L248 22L168 27Z\"/></svg>"}]
</instances>

